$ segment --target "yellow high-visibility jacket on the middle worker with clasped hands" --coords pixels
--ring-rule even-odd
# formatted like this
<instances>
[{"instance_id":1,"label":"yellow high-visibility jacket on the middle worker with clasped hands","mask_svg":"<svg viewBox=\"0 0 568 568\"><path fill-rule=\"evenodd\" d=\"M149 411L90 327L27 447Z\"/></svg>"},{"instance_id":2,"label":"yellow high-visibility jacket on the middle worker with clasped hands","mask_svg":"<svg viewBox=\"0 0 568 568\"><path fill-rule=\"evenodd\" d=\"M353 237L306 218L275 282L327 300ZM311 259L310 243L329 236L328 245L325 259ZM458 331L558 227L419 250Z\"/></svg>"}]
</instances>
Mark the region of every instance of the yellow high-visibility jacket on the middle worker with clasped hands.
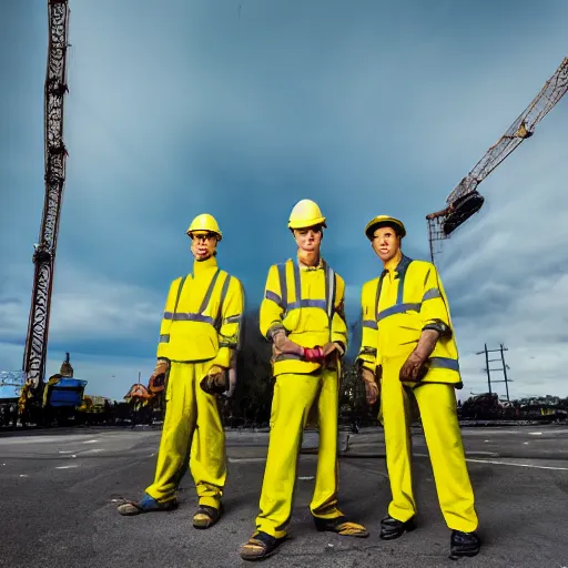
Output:
<instances>
[{"instance_id":1,"label":"yellow high-visibility jacket on the middle worker with clasped hands","mask_svg":"<svg viewBox=\"0 0 568 568\"><path fill-rule=\"evenodd\" d=\"M288 258L268 270L261 304L260 327L268 332L283 327L291 341L303 347L338 343L347 349L344 313L345 282L322 260L318 266L302 267ZM313 373L320 363L282 354L273 362L274 376L283 373Z\"/></svg>"}]
</instances>

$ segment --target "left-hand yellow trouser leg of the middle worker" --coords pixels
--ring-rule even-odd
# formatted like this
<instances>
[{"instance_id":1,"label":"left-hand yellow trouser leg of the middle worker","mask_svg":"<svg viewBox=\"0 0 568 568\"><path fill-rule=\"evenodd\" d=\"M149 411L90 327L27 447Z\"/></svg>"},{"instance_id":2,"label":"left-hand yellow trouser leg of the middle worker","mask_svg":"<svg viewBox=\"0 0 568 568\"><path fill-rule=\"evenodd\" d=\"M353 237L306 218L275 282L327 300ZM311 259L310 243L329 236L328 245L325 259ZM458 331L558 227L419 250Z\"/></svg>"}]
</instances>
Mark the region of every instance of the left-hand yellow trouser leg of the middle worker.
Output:
<instances>
[{"instance_id":1,"label":"left-hand yellow trouser leg of the middle worker","mask_svg":"<svg viewBox=\"0 0 568 568\"><path fill-rule=\"evenodd\" d=\"M320 379L313 375L280 375L274 385L268 453L256 529L282 538L292 516L297 458L307 414Z\"/></svg>"}]
</instances>

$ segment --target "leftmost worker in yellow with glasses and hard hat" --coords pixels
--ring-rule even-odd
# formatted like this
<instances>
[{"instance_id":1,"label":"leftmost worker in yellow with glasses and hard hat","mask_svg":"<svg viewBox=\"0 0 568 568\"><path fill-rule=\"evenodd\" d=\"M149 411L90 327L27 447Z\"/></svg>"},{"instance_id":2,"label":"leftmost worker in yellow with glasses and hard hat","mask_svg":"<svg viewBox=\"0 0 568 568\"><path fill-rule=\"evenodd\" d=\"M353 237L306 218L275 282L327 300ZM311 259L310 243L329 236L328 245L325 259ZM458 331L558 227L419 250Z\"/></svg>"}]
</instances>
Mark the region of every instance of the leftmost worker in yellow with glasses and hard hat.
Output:
<instances>
[{"instance_id":1,"label":"leftmost worker in yellow with glasses and hard hat","mask_svg":"<svg viewBox=\"0 0 568 568\"><path fill-rule=\"evenodd\" d=\"M209 528L221 517L226 478L225 434L215 395L232 396L235 388L244 292L236 277L217 266L222 233L215 219L197 215L186 233L193 271L170 286L153 374L166 374L154 483L141 501L125 503L119 511L138 515L175 508L189 462L199 497L193 526Z\"/></svg>"}]
</instances>

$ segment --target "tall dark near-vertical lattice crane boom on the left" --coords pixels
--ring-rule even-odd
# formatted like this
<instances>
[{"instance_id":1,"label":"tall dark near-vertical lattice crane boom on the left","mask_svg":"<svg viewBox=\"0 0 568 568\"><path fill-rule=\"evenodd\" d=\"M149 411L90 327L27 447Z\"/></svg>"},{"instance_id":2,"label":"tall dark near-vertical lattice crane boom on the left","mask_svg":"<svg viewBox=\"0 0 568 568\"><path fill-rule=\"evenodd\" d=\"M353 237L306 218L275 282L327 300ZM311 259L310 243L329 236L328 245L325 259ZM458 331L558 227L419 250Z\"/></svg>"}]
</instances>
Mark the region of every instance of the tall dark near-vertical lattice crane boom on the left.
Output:
<instances>
[{"instance_id":1,"label":"tall dark near-vertical lattice crane boom on the left","mask_svg":"<svg viewBox=\"0 0 568 568\"><path fill-rule=\"evenodd\" d=\"M23 355L27 378L38 386L45 373L51 291L65 181L63 99L67 85L68 0L48 0L49 48L44 88L45 196L39 243L33 252L33 292Z\"/></svg>"}]
</instances>

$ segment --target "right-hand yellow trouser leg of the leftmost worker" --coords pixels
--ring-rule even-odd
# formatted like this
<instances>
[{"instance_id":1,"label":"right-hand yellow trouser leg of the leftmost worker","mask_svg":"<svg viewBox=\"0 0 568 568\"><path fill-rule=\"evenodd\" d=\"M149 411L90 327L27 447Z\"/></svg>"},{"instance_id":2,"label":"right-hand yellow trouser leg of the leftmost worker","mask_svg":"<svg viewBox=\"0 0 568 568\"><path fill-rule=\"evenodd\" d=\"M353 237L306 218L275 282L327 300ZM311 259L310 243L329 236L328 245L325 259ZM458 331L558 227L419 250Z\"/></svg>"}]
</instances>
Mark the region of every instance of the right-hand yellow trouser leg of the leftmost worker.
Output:
<instances>
[{"instance_id":1,"label":"right-hand yellow trouser leg of the leftmost worker","mask_svg":"<svg viewBox=\"0 0 568 568\"><path fill-rule=\"evenodd\" d=\"M226 479L225 430L217 400L200 387L211 363L196 364L194 382L197 424L190 468L200 505L219 508Z\"/></svg>"}]
</instances>

